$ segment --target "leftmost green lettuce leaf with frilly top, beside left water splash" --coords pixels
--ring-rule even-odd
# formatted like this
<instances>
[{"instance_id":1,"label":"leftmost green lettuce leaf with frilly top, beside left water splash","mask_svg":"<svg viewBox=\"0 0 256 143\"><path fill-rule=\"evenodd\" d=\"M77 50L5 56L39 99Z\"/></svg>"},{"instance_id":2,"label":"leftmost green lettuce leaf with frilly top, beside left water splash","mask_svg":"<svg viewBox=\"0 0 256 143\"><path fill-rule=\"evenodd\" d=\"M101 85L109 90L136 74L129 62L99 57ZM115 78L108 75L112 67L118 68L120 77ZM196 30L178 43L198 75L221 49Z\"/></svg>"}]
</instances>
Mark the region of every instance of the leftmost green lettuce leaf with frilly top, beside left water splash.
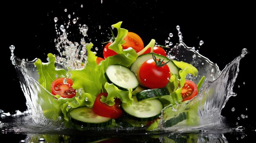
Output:
<instances>
[{"instance_id":1,"label":"leftmost green lettuce leaf with frilly top, beside left water splash","mask_svg":"<svg viewBox=\"0 0 256 143\"><path fill-rule=\"evenodd\" d=\"M40 59L37 59L35 66L37 68L39 79L38 82L43 88L51 92L52 82L61 77L66 77L67 71L65 69L59 69L55 66L55 55L49 53L49 62L43 63ZM58 77L56 77L58 75Z\"/></svg>"}]
</instances>

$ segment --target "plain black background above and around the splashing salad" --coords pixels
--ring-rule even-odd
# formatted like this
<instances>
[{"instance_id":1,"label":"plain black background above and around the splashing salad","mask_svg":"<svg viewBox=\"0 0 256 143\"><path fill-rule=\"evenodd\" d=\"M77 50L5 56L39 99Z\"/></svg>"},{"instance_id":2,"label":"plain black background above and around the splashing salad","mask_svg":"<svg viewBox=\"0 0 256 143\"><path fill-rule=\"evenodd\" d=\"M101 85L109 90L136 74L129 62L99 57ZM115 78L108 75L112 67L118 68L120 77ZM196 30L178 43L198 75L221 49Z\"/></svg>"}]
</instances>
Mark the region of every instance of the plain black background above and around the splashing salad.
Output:
<instances>
[{"instance_id":1,"label":"plain black background above and around the splashing salad","mask_svg":"<svg viewBox=\"0 0 256 143\"><path fill-rule=\"evenodd\" d=\"M83 8L80 7L81 4ZM67 9L67 12L64 9ZM240 55L243 48L247 48L249 53L240 61L240 72L233 88L237 96L229 99L222 115L227 117L231 124L238 122L239 125L255 129L255 0L225 3L103 0L102 4L101 0L8 1L7 4L1 4L0 41L3 51L0 57L3 73L0 109L5 112L27 109L15 68L9 60L9 46L16 46L14 53L21 59L45 59L49 52L57 54L54 43L54 17L59 19L56 23L59 29L61 24L68 22L68 14L72 16L71 21L79 17L77 24L88 25L88 39L98 48L102 47L100 42L107 40L107 33L110 33L108 27L119 21L123 21L123 28L140 35L145 45L152 38L163 45L169 33L174 35L170 41L177 43L175 27L180 25L184 43L190 47L194 46L202 55L217 63L220 70ZM78 32L77 24L70 26L69 31L72 31L72 34L69 39L79 42L82 35ZM200 40L203 40L204 44L198 48ZM102 50L97 51L99 55L102 54L100 51ZM236 108L234 112L231 112L232 107ZM248 115L248 118L238 120L237 117L241 114Z\"/></svg>"}]
</instances>

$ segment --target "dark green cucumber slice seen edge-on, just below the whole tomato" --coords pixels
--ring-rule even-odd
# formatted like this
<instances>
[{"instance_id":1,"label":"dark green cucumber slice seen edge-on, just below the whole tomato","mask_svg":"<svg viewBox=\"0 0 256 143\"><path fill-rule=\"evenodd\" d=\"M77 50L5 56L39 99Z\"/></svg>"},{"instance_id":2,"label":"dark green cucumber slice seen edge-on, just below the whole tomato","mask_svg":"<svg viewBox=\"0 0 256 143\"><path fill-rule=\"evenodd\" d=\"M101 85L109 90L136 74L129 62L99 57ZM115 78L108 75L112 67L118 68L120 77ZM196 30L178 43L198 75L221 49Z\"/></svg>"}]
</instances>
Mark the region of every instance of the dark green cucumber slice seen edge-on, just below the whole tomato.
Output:
<instances>
[{"instance_id":1,"label":"dark green cucumber slice seen edge-on, just below the whole tomato","mask_svg":"<svg viewBox=\"0 0 256 143\"><path fill-rule=\"evenodd\" d=\"M138 101L146 100L146 99L154 99L164 95L169 95L170 92L167 88L155 88L143 90L141 92L136 93L136 97Z\"/></svg>"}]
</instances>

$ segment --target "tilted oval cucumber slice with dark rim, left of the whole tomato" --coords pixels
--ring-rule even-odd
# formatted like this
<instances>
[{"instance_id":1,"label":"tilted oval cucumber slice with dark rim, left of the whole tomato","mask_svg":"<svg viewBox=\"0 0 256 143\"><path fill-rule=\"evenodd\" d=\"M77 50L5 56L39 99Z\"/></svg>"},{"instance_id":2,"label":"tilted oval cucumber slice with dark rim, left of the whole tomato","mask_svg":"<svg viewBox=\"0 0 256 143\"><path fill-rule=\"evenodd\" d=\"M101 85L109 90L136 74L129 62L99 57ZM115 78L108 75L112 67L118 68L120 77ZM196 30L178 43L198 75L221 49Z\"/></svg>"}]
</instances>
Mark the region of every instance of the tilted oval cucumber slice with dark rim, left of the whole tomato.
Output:
<instances>
[{"instance_id":1,"label":"tilted oval cucumber slice with dark rim, left of the whole tomato","mask_svg":"<svg viewBox=\"0 0 256 143\"><path fill-rule=\"evenodd\" d=\"M135 90L139 85L136 75L126 66L114 64L108 66L105 77L109 83L114 84L120 90Z\"/></svg>"}]
</instances>

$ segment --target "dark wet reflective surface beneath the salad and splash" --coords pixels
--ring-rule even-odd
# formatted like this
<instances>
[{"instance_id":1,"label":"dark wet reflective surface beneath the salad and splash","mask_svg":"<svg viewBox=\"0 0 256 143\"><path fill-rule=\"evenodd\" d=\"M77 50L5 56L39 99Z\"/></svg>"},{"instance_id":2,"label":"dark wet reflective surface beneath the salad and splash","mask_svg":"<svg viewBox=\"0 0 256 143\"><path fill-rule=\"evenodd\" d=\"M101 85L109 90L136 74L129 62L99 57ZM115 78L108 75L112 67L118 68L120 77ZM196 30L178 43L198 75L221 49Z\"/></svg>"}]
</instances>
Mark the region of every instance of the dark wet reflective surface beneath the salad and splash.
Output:
<instances>
[{"instance_id":1,"label":"dark wet reflective surface beneath the salad and splash","mask_svg":"<svg viewBox=\"0 0 256 143\"><path fill-rule=\"evenodd\" d=\"M255 130L146 132L140 130L70 130L34 125L29 116L2 119L1 142L18 143L253 143ZM229 127L227 127L229 128Z\"/></svg>"}]
</instances>

